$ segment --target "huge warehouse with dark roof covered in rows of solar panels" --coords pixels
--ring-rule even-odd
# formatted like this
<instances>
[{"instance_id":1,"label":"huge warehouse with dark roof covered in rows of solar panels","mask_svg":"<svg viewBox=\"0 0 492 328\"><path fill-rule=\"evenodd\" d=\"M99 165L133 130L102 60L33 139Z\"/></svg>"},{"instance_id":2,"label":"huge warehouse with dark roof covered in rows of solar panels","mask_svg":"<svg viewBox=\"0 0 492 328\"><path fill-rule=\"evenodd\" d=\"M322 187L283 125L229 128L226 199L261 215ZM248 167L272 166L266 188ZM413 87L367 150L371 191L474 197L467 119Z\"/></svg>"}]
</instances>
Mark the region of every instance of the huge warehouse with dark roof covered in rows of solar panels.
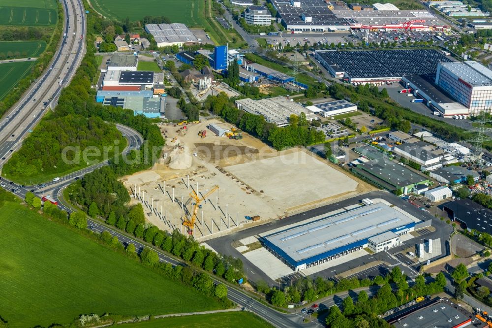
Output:
<instances>
[{"instance_id":1,"label":"huge warehouse with dark roof covered in rows of solar panels","mask_svg":"<svg viewBox=\"0 0 492 328\"><path fill-rule=\"evenodd\" d=\"M322 50L315 51L314 58L334 76L343 75L349 82L400 81L403 75L435 75L438 63L450 62L442 53L431 49Z\"/></svg>"}]
</instances>

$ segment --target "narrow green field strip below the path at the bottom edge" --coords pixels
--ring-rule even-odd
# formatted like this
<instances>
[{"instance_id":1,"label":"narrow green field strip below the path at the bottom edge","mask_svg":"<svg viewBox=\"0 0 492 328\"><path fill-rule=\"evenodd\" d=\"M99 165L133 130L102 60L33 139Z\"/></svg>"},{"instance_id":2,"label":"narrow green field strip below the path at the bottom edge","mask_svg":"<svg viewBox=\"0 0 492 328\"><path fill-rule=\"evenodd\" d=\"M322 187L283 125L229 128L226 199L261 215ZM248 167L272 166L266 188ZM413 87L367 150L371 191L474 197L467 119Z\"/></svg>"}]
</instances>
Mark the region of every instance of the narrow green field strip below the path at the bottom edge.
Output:
<instances>
[{"instance_id":1,"label":"narrow green field strip below the path at the bottom edge","mask_svg":"<svg viewBox=\"0 0 492 328\"><path fill-rule=\"evenodd\" d=\"M249 312L221 312L211 314L200 314L185 317L167 317L151 321L143 321L137 324L125 324L122 328L217 328L217 327L273 327L263 319Z\"/></svg>"}]
</instances>

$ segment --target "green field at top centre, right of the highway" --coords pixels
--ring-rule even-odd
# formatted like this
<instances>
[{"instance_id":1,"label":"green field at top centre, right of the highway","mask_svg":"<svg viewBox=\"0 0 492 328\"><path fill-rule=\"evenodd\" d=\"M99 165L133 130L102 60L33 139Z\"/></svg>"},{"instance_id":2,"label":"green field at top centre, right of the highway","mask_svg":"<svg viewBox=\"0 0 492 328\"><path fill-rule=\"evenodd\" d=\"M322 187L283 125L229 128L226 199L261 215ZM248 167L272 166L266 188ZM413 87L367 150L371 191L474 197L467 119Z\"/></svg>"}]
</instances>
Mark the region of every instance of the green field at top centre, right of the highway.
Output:
<instances>
[{"instance_id":1,"label":"green field at top centre, right of the highway","mask_svg":"<svg viewBox=\"0 0 492 328\"><path fill-rule=\"evenodd\" d=\"M203 13L198 10L200 1L203 0L146 0L145 5L133 0L91 0L91 3L108 18L123 20L128 16L136 21L145 16L166 16L186 26L203 26Z\"/></svg>"}]
</instances>

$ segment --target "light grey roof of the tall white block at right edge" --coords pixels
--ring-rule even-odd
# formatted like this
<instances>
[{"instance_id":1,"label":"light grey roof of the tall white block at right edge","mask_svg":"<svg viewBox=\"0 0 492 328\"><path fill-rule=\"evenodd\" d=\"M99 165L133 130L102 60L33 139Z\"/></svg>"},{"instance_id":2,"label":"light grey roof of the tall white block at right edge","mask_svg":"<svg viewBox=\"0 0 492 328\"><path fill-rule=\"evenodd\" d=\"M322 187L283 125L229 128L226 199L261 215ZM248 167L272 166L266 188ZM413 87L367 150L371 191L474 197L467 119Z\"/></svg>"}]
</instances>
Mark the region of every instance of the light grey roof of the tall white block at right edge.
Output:
<instances>
[{"instance_id":1,"label":"light grey roof of the tall white block at right edge","mask_svg":"<svg viewBox=\"0 0 492 328\"><path fill-rule=\"evenodd\" d=\"M474 87L492 85L492 71L477 62L440 63L439 65Z\"/></svg>"}]
</instances>

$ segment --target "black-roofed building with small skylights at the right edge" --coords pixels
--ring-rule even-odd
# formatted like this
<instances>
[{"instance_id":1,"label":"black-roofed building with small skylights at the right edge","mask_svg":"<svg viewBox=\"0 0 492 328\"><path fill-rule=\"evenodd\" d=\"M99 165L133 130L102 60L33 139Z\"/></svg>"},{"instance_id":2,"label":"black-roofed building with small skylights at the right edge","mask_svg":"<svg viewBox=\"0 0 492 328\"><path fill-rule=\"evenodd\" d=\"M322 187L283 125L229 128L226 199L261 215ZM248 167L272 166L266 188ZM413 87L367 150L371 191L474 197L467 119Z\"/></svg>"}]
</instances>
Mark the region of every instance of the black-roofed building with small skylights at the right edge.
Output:
<instances>
[{"instance_id":1,"label":"black-roofed building with small skylights at the right edge","mask_svg":"<svg viewBox=\"0 0 492 328\"><path fill-rule=\"evenodd\" d=\"M492 211L471 199L455 200L444 205L453 221L459 221L468 230L492 234Z\"/></svg>"}]
</instances>

